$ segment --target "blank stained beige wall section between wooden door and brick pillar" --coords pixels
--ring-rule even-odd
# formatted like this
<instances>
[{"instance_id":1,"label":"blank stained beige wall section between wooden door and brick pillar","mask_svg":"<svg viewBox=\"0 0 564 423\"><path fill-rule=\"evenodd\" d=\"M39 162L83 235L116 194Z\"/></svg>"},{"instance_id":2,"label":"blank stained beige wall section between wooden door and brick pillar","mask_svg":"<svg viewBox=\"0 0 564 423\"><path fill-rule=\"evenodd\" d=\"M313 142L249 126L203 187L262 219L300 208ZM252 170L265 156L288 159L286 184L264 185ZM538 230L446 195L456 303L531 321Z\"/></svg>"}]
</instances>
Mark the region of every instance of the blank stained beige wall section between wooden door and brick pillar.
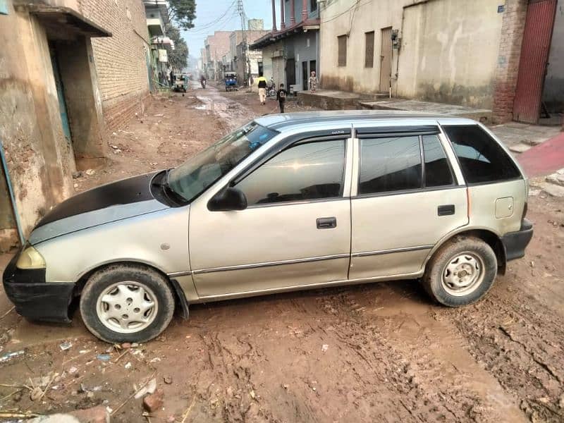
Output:
<instances>
[{"instance_id":1,"label":"blank stained beige wall section between wooden door and brick pillar","mask_svg":"<svg viewBox=\"0 0 564 423\"><path fill-rule=\"evenodd\" d=\"M491 109L502 22L491 0L405 8L396 94Z\"/></svg>"}]
</instances>

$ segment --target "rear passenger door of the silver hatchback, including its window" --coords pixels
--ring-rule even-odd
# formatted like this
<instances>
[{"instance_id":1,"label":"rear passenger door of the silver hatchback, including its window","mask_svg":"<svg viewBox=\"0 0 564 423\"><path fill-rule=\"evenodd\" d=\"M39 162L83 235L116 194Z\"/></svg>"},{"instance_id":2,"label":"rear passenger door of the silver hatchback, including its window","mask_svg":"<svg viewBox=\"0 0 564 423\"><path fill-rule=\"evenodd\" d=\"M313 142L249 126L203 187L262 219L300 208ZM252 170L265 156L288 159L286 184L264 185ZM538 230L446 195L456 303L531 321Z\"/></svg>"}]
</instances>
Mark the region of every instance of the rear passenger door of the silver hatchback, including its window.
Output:
<instances>
[{"instance_id":1,"label":"rear passenger door of the silver hatchback, including its window","mask_svg":"<svg viewBox=\"0 0 564 423\"><path fill-rule=\"evenodd\" d=\"M437 126L357 129L350 279L416 274L468 223L466 187L445 145Z\"/></svg>"}]
</instances>

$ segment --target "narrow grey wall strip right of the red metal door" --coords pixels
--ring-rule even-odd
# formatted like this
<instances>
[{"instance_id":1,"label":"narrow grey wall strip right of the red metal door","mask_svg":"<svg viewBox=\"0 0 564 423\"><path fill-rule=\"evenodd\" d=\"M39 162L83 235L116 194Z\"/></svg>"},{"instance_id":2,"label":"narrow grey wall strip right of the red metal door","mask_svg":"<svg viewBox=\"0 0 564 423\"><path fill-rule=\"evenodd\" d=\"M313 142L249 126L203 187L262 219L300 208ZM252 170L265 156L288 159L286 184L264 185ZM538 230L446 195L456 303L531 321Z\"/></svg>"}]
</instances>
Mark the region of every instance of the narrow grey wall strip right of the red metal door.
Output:
<instances>
[{"instance_id":1,"label":"narrow grey wall strip right of the red metal door","mask_svg":"<svg viewBox=\"0 0 564 423\"><path fill-rule=\"evenodd\" d=\"M564 111L564 0L558 0L543 101L550 111Z\"/></svg>"}]
</instances>

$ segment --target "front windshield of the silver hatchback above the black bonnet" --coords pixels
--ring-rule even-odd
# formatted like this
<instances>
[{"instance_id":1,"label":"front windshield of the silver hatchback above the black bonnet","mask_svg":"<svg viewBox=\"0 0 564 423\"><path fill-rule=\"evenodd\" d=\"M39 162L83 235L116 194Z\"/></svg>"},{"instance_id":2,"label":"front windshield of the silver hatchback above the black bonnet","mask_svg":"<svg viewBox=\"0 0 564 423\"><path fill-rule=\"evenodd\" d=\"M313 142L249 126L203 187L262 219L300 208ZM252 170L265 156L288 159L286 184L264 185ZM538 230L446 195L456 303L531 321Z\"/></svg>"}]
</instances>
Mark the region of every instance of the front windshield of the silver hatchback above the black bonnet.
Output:
<instances>
[{"instance_id":1,"label":"front windshield of the silver hatchback above the black bonnet","mask_svg":"<svg viewBox=\"0 0 564 423\"><path fill-rule=\"evenodd\" d=\"M256 122L235 130L168 173L168 187L191 202L278 132Z\"/></svg>"}]
</instances>

